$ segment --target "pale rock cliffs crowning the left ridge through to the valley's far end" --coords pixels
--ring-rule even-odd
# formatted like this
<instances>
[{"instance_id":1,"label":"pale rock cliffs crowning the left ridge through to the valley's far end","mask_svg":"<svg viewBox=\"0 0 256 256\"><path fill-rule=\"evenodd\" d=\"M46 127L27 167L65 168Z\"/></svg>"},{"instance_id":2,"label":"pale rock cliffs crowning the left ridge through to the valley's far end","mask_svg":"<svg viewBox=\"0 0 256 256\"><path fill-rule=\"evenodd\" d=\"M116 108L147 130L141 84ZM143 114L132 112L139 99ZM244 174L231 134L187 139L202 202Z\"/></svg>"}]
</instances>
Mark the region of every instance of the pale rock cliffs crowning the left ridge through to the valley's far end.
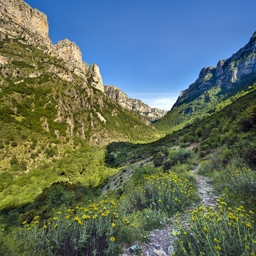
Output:
<instances>
[{"instance_id":1,"label":"pale rock cliffs crowning the left ridge through to the valley's far end","mask_svg":"<svg viewBox=\"0 0 256 256\"><path fill-rule=\"evenodd\" d=\"M105 92L111 99L117 101L123 108L129 109L138 116L146 116L149 122L154 122L162 118L167 111L150 108L141 100L129 99L125 93L116 87L109 87L109 90L104 90L102 77L99 67L96 63L89 66L82 61L82 53L79 47L70 42L67 38L60 40L58 44L52 45L49 37L49 25L47 16L31 8L22 0L1 0L0 1L0 37L1 38L24 38L26 44L33 44L35 47L40 47L40 50L51 54L51 56L60 58L65 61L65 68L74 72L77 76L84 79L84 83L90 83L95 88ZM8 60L4 56L0 58L0 65L4 65L12 60ZM35 65L32 63L32 65ZM19 70L13 73L13 77L19 76ZM70 72L52 64L48 68L48 72L56 74L63 80L73 83L74 77ZM8 76L10 70L6 68L1 70L4 77ZM29 74L29 77L40 76L41 73ZM107 86L105 86L107 88ZM111 88L111 89L110 89ZM121 92L121 93L119 93ZM116 94L117 93L117 94ZM118 97L116 95L119 95ZM117 97L117 98L116 98ZM116 99L114 99L116 98ZM143 122L147 122L143 118ZM148 123L148 122L147 122Z\"/></svg>"}]
</instances>

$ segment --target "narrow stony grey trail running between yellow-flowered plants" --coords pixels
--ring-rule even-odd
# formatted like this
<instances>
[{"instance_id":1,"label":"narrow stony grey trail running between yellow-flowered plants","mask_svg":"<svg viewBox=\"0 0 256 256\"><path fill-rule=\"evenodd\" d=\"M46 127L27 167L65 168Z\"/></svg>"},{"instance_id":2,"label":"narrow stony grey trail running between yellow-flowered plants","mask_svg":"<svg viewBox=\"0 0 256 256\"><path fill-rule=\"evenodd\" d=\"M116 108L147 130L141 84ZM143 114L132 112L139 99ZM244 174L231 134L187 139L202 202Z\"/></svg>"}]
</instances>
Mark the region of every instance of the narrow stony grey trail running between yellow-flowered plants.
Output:
<instances>
[{"instance_id":1,"label":"narrow stony grey trail running between yellow-flowered plants","mask_svg":"<svg viewBox=\"0 0 256 256\"><path fill-rule=\"evenodd\" d=\"M201 202L195 205L198 205L198 207L203 205L204 207L214 207L217 209L216 199L219 198L219 196L216 195L216 192L212 188L212 180L209 177L198 175L198 168L199 166L191 171L191 173L195 175L196 185L198 187L196 194L201 198ZM182 215L183 217L186 217L184 213L182 213ZM184 220L186 220L186 218L184 218ZM175 252L172 246L173 237L170 235L172 230L175 229L174 224L172 224L173 221L174 218L172 217L170 218L170 224L163 227L163 229L151 231L149 243L143 243L140 244L140 246L138 243L135 243L134 246L131 246L130 248L123 248L123 254L121 256L171 256L172 252ZM184 221L184 225L186 225L186 221ZM141 249L141 254L137 253L139 251L136 249L136 246Z\"/></svg>"}]
</instances>

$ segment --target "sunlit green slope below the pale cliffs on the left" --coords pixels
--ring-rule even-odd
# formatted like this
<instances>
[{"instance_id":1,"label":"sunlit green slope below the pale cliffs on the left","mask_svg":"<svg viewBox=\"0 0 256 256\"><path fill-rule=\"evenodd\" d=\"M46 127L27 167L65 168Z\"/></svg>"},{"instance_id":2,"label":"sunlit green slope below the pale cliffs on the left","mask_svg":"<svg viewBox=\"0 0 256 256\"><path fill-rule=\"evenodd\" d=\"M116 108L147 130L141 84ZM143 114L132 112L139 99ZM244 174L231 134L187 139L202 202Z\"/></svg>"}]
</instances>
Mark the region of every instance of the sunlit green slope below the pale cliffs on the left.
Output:
<instances>
[{"instance_id":1,"label":"sunlit green slope below the pale cliffs on the left","mask_svg":"<svg viewBox=\"0 0 256 256\"><path fill-rule=\"evenodd\" d=\"M33 201L52 182L98 186L116 172L104 163L103 145L159 138L156 129L26 40L1 40L0 55L6 61L0 72L0 209Z\"/></svg>"}]
</instances>

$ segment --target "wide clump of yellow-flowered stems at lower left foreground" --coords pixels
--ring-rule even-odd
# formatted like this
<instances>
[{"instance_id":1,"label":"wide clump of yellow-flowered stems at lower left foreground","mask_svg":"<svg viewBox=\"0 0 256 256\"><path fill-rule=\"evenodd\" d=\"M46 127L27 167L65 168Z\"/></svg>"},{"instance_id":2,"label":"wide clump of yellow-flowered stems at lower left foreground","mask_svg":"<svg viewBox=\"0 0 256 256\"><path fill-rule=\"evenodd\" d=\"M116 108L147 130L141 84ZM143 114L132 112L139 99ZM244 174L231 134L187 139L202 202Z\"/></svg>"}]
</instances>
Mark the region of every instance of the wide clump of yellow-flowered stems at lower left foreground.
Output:
<instances>
[{"instance_id":1,"label":"wide clump of yellow-flowered stems at lower left foreground","mask_svg":"<svg viewBox=\"0 0 256 256\"><path fill-rule=\"evenodd\" d=\"M54 217L40 225L36 216L28 224L24 221L20 236L27 243L36 241L35 253L47 255L113 255L118 250L116 225L132 227L132 223L118 214L118 201L104 196L83 207L52 209ZM21 238L21 237L20 237ZM118 242L118 241L117 241ZM68 254L71 253L71 254Z\"/></svg>"}]
</instances>

